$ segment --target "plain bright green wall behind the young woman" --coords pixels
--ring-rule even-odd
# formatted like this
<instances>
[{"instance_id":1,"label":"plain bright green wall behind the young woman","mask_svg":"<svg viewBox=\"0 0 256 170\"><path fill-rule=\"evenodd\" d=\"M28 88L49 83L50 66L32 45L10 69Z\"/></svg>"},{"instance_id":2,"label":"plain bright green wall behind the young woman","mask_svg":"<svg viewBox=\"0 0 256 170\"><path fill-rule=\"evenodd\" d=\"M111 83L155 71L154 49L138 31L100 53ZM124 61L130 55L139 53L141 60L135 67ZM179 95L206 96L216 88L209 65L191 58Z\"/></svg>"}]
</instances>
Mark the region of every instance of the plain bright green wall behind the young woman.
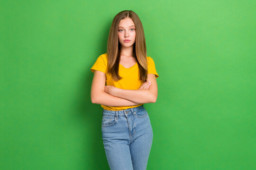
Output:
<instances>
[{"instance_id":1,"label":"plain bright green wall behind the young woman","mask_svg":"<svg viewBox=\"0 0 256 170\"><path fill-rule=\"evenodd\" d=\"M255 0L0 4L0 170L109 170L90 68L126 9L159 74L147 170L256 169Z\"/></svg>"}]
</instances>

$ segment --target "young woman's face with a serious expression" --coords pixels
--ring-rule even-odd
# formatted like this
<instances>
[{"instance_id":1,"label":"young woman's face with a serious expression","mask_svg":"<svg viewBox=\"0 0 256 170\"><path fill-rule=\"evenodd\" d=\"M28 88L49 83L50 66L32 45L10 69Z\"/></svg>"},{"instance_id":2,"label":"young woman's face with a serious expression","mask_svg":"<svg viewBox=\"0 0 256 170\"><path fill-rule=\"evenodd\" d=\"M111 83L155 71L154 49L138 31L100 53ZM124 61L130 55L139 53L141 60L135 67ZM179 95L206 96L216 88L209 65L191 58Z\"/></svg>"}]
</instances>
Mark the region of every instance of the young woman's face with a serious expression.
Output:
<instances>
[{"instance_id":1,"label":"young woman's face with a serious expression","mask_svg":"<svg viewBox=\"0 0 256 170\"><path fill-rule=\"evenodd\" d=\"M125 19L121 19L119 22L118 28L118 37L119 42L123 47L130 47L135 42L136 32L135 32L135 24L133 20L129 17ZM125 42L124 40L130 40L129 42Z\"/></svg>"}]
</instances>

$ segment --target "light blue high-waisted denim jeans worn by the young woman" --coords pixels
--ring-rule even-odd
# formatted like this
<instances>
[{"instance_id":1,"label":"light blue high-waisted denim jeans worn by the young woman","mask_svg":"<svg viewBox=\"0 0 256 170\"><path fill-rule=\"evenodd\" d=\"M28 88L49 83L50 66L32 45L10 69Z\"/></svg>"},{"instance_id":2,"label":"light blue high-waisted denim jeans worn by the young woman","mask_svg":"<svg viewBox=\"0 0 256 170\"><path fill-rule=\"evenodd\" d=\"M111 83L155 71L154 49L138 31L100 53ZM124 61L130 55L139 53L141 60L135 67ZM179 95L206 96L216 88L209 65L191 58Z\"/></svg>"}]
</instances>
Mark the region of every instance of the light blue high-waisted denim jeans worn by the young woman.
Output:
<instances>
[{"instance_id":1,"label":"light blue high-waisted denim jeans worn by the young woman","mask_svg":"<svg viewBox=\"0 0 256 170\"><path fill-rule=\"evenodd\" d=\"M102 140L110 170L146 170L153 131L144 106L103 109L102 116Z\"/></svg>"}]
</instances>

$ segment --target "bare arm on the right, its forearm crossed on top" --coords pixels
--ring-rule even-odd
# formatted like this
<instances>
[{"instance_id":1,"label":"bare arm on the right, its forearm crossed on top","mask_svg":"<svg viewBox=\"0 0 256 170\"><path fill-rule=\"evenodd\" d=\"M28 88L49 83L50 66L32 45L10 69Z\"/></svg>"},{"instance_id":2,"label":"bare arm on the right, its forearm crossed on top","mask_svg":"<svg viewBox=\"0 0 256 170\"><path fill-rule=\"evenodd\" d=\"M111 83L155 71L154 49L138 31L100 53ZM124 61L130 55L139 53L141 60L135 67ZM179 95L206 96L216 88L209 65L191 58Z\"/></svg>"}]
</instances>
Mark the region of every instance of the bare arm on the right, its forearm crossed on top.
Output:
<instances>
[{"instance_id":1,"label":"bare arm on the right, its forearm crossed on top","mask_svg":"<svg viewBox=\"0 0 256 170\"><path fill-rule=\"evenodd\" d=\"M127 90L111 87L109 91L107 90L107 92L113 96L127 99L136 103L156 102L158 90L155 74L148 74L147 81L151 81L151 86L149 89Z\"/></svg>"}]
</instances>

